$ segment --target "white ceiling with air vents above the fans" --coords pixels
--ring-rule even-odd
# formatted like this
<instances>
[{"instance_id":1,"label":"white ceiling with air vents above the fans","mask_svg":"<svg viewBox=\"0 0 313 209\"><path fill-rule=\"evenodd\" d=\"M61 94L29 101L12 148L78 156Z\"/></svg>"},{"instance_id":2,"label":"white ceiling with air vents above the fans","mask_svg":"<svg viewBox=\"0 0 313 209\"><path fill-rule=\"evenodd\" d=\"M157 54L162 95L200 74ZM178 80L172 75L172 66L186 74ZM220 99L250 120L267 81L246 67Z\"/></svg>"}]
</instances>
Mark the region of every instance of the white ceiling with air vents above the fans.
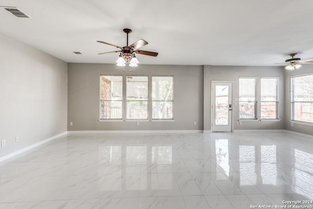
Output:
<instances>
[{"instance_id":1,"label":"white ceiling with air vents above the fans","mask_svg":"<svg viewBox=\"0 0 313 209\"><path fill-rule=\"evenodd\" d=\"M0 0L0 32L66 62L114 63L116 48L144 39L140 64L275 66L313 58L312 0ZM80 51L83 55L75 55Z\"/></svg>"}]
</instances>

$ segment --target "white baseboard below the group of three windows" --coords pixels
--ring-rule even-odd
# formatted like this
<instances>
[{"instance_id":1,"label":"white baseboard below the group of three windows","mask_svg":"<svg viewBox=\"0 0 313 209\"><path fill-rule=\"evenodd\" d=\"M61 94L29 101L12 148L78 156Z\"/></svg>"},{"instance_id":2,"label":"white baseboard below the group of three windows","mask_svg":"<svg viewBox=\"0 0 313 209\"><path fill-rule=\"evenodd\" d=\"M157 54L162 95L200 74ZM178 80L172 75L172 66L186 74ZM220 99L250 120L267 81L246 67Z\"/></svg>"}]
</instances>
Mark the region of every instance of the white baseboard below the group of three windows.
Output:
<instances>
[{"instance_id":1,"label":"white baseboard below the group of three windows","mask_svg":"<svg viewBox=\"0 0 313 209\"><path fill-rule=\"evenodd\" d=\"M67 131L67 134L158 134L203 133L203 130L123 130L123 131Z\"/></svg>"}]
</instances>

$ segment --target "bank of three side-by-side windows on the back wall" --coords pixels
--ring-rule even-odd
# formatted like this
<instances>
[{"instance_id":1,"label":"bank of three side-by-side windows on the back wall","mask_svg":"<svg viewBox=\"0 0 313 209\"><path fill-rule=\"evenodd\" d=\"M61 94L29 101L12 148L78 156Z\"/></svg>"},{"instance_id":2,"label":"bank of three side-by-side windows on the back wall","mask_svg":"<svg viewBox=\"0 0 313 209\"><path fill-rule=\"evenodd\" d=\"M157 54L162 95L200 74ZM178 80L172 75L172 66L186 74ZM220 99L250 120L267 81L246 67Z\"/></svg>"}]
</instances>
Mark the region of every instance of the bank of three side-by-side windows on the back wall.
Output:
<instances>
[{"instance_id":1,"label":"bank of three side-by-side windows on the back wall","mask_svg":"<svg viewBox=\"0 0 313 209\"><path fill-rule=\"evenodd\" d=\"M152 79L151 89L148 80ZM100 120L173 120L174 76L100 75ZM151 105L148 115L148 104Z\"/></svg>"}]
</instances>

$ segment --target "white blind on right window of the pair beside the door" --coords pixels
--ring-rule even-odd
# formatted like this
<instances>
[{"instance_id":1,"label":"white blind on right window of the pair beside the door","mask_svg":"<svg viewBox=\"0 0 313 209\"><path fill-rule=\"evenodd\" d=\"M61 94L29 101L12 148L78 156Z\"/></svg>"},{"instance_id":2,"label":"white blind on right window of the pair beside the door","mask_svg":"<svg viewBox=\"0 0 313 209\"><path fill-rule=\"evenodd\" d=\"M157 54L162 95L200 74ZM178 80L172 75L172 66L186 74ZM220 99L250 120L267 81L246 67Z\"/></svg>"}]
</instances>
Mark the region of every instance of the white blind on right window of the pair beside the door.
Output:
<instances>
[{"instance_id":1,"label":"white blind on right window of the pair beside the door","mask_svg":"<svg viewBox=\"0 0 313 209\"><path fill-rule=\"evenodd\" d=\"M278 78L261 78L261 119L278 119Z\"/></svg>"}]
</instances>

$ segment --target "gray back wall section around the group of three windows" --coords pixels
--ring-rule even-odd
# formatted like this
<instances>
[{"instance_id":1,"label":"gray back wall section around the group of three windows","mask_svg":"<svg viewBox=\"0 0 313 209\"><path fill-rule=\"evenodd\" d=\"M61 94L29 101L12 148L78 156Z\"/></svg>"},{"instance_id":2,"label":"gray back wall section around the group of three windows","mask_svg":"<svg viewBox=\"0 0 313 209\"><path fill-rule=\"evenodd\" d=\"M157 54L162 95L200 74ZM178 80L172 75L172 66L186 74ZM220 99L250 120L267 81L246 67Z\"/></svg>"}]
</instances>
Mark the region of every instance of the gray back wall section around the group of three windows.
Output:
<instances>
[{"instance_id":1,"label":"gray back wall section around the group of three windows","mask_svg":"<svg viewBox=\"0 0 313 209\"><path fill-rule=\"evenodd\" d=\"M140 121L139 126L136 125L137 120L100 122L101 74L148 75L150 80L152 75L174 75L174 121ZM203 130L203 66L138 65L132 72L128 67L123 72L113 64L69 63L67 120L68 131ZM69 126L70 121L72 126Z\"/></svg>"}]
</instances>

